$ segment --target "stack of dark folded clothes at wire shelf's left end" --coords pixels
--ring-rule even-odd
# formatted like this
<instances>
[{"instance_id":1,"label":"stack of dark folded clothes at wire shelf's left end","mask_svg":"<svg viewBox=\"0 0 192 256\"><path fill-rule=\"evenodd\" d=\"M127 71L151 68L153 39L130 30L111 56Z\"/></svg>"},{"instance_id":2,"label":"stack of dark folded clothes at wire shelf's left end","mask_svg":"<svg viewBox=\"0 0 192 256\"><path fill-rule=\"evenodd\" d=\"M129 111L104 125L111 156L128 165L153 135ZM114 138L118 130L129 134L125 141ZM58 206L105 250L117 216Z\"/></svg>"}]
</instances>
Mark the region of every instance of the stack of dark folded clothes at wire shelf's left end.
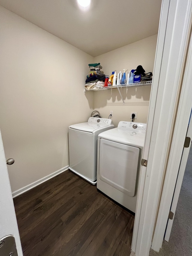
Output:
<instances>
[{"instance_id":1,"label":"stack of dark folded clothes at wire shelf's left end","mask_svg":"<svg viewBox=\"0 0 192 256\"><path fill-rule=\"evenodd\" d=\"M85 80L85 84L97 83L98 81L105 81L105 74L101 71L102 66L100 63L88 64L89 66L89 74L87 75L87 79Z\"/></svg>"}]
</instances>

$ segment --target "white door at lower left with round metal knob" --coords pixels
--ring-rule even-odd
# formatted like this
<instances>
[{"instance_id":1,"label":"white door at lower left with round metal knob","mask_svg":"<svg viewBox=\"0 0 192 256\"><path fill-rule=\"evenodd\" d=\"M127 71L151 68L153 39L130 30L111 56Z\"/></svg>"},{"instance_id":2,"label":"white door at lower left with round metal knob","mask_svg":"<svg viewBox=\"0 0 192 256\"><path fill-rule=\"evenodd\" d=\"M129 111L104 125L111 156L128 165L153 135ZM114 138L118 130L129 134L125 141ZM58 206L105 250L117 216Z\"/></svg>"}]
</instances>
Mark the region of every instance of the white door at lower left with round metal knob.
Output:
<instances>
[{"instance_id":1,"label":"white door at lower left with round metal knob","mask_svg":"<svg viewBox=\"0 0 192 256\"><path fill-rule=\"evenodd\" d=\"M3 148L3 142L1 138L1 131L0 131L0 255L9 255L4 254L4 251L6 250L6 247L8 242L6 239L2 239L6 236L12 235L15 238L16 248L17 248L17 254L19 256L22 256L22 248L21 248L21 242L19 238L19 230L17 227L17 221L16 221L16 215L15 215L15 209L13 204L13 198L10 188L10 182L9 182L9 176L7 172L7 165L5 161L5 155L4 155L4 148ZM11 237L13 238L13 237ZM11 248L10 248L11 250ZM12 255L12 254L10 254ZM13 255L16 255L14 252Z\"/></svg>"}]
</instances>

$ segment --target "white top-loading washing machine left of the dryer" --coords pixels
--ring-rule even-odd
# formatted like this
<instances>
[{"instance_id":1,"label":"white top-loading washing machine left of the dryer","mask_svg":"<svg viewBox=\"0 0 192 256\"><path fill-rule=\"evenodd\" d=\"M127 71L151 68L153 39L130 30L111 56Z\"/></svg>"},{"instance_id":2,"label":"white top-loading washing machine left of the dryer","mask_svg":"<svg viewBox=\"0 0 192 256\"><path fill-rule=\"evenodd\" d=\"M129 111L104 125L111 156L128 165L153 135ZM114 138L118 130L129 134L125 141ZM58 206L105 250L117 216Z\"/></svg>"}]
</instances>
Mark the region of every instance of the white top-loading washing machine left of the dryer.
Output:
<instances>
[{"instance_id":1,"label":"white top-loading washing machine left of the dryer","mask_svg":"<svg viewBox=\"0 0 192 256\"><path fill-rule=\"evenodd\" d=\"M94 185L97 183L98 134L112 128L111 119L98 117L69 126L69 169Z\"/></svg>"}]
</instances>

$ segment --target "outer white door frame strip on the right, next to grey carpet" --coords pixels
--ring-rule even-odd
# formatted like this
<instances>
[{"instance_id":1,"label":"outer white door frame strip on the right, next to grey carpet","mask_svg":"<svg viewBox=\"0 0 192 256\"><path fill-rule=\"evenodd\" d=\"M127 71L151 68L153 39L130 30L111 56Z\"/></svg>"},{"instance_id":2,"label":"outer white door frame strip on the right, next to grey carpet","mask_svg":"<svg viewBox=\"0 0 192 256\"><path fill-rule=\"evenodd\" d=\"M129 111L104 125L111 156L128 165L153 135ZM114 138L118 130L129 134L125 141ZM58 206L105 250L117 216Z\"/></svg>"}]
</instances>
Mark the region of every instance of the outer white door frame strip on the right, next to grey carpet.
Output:
<instances>
[{"instance_id":1,"label":"outer white door frame strip on the right, next to grey carpet","mask_svg":"<svg viewBox=\"0 0 192 256\"><path fill-rule=\"evenodd\" d=\"M157 224L152 242L152 249L159 251L164 239L167 219L173 199L174 189L182 159L183 145L187 133L188 122L192 108L192 37L188 50L186 68L184 71L182 90L179 99L179 106L176 116L173 140L170 149L170 157L164 180L164 187L161 196Z\"/></svg>"}]
</instances>

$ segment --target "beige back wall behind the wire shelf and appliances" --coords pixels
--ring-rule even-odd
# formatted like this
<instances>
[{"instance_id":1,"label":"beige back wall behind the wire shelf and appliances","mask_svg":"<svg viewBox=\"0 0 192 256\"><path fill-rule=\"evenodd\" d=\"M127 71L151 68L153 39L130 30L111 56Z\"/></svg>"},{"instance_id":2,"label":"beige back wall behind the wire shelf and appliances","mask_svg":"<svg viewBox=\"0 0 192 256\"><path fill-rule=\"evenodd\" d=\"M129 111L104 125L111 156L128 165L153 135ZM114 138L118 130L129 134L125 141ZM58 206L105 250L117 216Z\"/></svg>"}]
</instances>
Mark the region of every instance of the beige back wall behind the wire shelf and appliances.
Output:
<instances>
[{"instance_id":1,"label":"beige back wall behind the wire shelf and appliances","mask_svg":"<svg viewBox=\"0 0 192 256\"><path fill-rule=\"evenodd\" d=\"M126 45L95 57L95 62L100 62L105 74L111 75L112 71L123 69L136 69L142 65L146 72L153 72L157 35ZM135 122L147 122L151 86L121 89L125 105L117 89L104 92L95 92L94 109L99 110L102 117L108 118L113 110L112 120L117 126L119 121L131 121L130 113L137 112ZM87 92L88 94L89 92Z\"/></svg>"}]
</instances>

